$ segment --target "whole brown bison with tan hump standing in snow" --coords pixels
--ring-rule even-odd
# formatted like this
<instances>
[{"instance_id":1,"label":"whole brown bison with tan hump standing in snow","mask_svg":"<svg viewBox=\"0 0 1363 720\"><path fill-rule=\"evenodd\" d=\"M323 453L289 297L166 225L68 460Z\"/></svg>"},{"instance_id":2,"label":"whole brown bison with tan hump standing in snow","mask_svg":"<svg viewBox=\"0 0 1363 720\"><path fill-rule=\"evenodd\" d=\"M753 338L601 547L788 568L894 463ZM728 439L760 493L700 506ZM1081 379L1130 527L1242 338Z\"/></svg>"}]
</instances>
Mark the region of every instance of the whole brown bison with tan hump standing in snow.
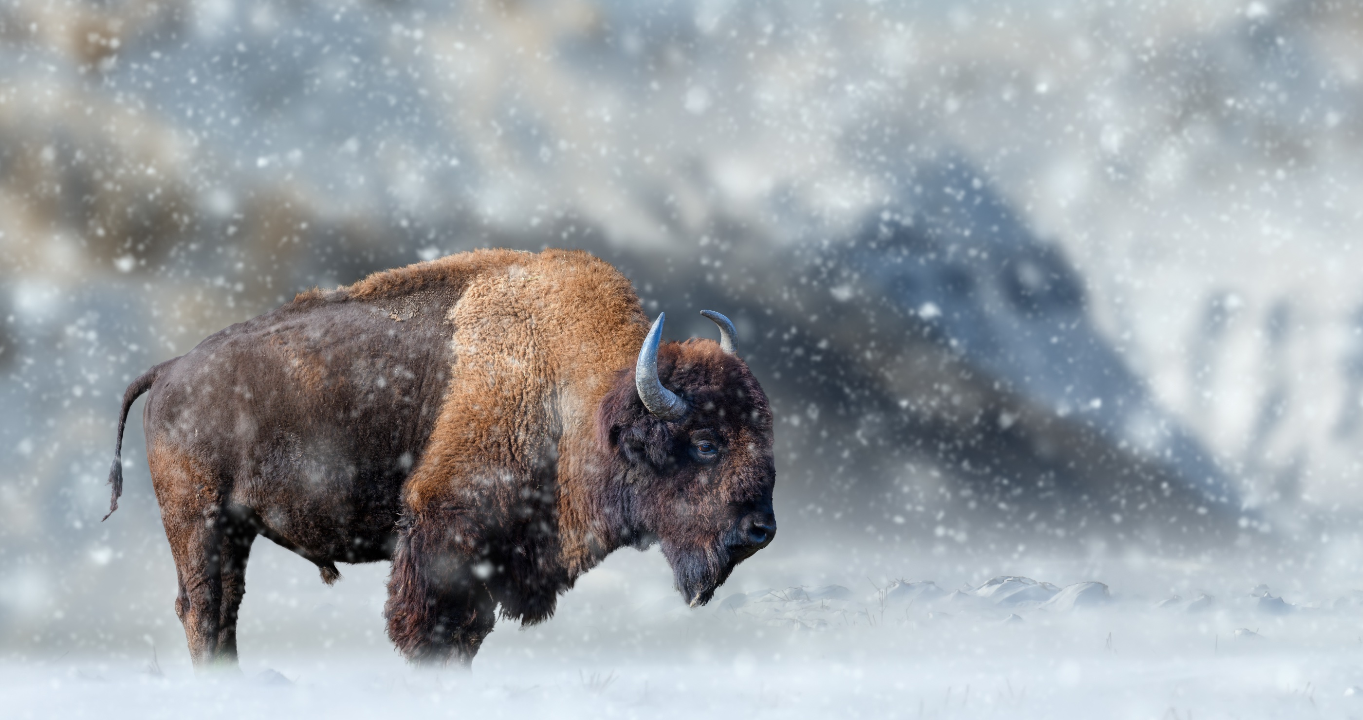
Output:
<instances>
[{"instance_id":1,"label":"whole brown bison with tan hump standing in snow","mask_svg":"<svg viewBox=\"0 0 1363 720\"><path fill-rule=\"evenodd\" d=\"M391 559L388 637L468 666L495 615L536 623L612 551L653 543L692 607L776 536L771 411L721 342L660 343L583 252L477 250L312 290L123 396L174 555L196 667L233 666L258 535L334 583ZM108 516L105 516L108 517Z\"/></svg>"}]
</instances>

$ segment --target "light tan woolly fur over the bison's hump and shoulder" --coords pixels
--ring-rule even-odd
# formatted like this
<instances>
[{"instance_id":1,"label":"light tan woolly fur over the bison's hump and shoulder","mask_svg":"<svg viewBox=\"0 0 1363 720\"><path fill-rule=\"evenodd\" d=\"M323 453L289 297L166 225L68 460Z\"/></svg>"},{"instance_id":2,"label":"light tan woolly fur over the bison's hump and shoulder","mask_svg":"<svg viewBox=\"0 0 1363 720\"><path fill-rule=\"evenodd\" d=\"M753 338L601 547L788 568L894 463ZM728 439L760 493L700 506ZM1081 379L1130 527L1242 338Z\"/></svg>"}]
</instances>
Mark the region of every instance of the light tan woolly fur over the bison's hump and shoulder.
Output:
<instances>
[{"instance_id":1,"label":"light tan woolly fur over the bison's hump and shoulder","mask_svg":"<svg viewBox=\"0 0 1363 720\"><path fill-rule=\"evenodd\" d=\"M481 508L507 516L556 461L559 531L571 574L590 568L593 516L581 467L597 453L593 412L638 355L647 320L630 280L579 250L477 250L369 276L345 291L391 297L462 283L447 313L454 365L421 464L413 513Z\"/></svg>"}]
</instances>

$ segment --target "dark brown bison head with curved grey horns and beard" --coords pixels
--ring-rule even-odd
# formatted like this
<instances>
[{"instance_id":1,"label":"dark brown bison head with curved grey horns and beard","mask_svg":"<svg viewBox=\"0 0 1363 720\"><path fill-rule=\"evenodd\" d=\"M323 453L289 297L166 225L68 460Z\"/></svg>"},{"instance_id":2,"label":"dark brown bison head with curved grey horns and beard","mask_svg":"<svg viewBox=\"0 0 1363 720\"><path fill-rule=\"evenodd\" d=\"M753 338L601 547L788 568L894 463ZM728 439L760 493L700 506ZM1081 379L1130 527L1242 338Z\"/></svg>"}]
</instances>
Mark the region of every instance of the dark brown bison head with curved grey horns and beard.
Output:
<instances>
[{"instance_id":1,"label":"dark brown bison head with curved grey horns and beard","mask_svg":"<svg viewBox=\"0 0 1363 720\"><path fill-rule=\"evenodd\" d=\"M660 344L660 314L634 381L622 373L598 416L628 535L641 549L661 543L692 607L776 536L771 410L735 354L733 324L702 314L720 325L720 343Z\"/></svg>"}]
</instances>

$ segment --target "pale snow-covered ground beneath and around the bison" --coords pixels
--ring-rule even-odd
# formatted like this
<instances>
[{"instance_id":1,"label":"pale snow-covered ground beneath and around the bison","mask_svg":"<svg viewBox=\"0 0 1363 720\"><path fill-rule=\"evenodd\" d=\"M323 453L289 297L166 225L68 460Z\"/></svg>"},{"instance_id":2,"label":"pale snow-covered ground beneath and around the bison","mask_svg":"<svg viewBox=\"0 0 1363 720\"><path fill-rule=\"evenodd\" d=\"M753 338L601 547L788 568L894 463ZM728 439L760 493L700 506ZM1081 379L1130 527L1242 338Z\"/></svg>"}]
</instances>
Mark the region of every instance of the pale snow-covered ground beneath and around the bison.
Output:
<instances>
[{"instance_id":1,"label":"pale snow-covered ground beneath and around the bison","mask_svg":"<svg viewBox=\"0 0 1363 720\"><path fill-rule=\"evenodd\" d=\"M1024 559L1051 576L984 581L973 580L992 572L983 565L919 563L935 583L859 577L875 563L849 562L840 584L788 588L763 585L808 568L754 568L692 611L656 551L627 553L552 621L499 626L463 672L409 668L387 644L384 566L324 588L303 561L260 554L240 674L196 678L179 627L165 626L108 652L0 659L0 715L1363 716L1363 593L1249 585L1284 566L1229 557ZM1129 580L1100 584L1094 572Z\"/></svg>"}]
</instances>

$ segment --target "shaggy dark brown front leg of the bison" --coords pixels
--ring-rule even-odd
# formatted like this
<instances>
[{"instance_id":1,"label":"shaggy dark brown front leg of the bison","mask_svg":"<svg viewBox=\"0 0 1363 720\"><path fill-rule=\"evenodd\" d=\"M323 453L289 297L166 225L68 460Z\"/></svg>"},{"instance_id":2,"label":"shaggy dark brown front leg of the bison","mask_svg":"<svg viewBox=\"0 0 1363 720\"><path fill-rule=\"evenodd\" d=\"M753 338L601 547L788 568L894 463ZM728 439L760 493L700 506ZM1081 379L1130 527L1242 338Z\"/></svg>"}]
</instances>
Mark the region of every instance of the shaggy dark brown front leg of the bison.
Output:
<instances>
[{"instance_id":1,"label":"shaggy dark brown front leg of the bison","mask_svg":"<svg viewBox=\"0 0 1363 720\"><path fill-rule=\"evenodd\" d=\"M477 534L454 521L403 521L388 577L388 637L408 661L473 664L496 602L478 577Z\"/></svg>"}]
</instances>

